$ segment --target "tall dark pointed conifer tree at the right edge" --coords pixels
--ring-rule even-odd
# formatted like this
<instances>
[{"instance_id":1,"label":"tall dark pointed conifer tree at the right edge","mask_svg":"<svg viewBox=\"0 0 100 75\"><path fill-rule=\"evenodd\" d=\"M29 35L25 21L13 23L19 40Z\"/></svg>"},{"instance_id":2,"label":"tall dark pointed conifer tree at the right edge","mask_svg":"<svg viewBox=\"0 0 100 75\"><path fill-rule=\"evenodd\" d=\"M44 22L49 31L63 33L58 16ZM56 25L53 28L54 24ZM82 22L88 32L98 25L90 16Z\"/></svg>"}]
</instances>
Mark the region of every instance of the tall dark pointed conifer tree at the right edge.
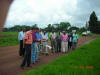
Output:
<instances>
[{"instance_id":1,"label":"tall dark pointed conifer tree at the right edge","mask_svg":"<svg viewBox=\"0 0 100 75\"><path fill-rule=\"evenodd\" d=\"M90 15L90 20L89 20L89 29L91 32L93 33L98 33L97 29L98 29L98 18L95 14L95 12L93 11L92 14Z\"/></svg>"}]
</instances>

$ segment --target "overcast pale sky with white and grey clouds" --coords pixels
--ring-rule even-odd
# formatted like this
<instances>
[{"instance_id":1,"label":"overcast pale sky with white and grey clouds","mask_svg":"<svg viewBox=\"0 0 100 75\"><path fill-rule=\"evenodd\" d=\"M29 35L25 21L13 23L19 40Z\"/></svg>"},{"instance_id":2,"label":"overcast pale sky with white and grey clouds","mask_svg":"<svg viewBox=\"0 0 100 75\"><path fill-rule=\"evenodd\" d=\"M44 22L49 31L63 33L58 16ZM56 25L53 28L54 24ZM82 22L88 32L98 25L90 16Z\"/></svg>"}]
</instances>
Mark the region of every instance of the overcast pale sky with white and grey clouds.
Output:
<instances>
[{"instance_id":1,"label":"overcast pale sky with white and grey clouds","mask_svg":"<svg viewBox=\"0 0 100 75\"><path fill-rule=\"evenodd\" d=\"M73 26L84 26L92 11L100 19L100 0L14 0L5 27L70 22Z\"/></svg>"}]
</instances>

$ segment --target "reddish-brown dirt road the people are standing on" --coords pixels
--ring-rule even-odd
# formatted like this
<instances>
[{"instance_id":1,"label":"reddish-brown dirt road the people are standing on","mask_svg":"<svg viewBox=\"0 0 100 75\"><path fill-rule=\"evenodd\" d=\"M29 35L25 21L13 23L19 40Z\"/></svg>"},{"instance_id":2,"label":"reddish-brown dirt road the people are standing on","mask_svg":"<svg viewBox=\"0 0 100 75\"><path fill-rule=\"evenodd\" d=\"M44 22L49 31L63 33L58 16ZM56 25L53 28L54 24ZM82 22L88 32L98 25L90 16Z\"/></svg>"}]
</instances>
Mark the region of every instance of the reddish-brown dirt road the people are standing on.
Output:
<instances>
[{"instance_id":1,"label":"reddish-brown dirt road the people are standing on","mask_svg":"<svg viewBox=\"0 0 100 75\"><path fill-rule=\"evenodd\" d=\"M98 35L80 37L78 42L78 47L85 44L86 41L96 38ZM63 55L61 53L51 54L49 56L45 56L40 54L40 61L32 64L32 68L26 68L22 70L20 68L20 64L22 62L23 57L18 55L19 46L9 46L9 47L0 47L0 75L18 75L23 73L26 70L33 69L43 64L47 64L48 62L54 60L55 58Z\"/></svg>"}]
</instances>

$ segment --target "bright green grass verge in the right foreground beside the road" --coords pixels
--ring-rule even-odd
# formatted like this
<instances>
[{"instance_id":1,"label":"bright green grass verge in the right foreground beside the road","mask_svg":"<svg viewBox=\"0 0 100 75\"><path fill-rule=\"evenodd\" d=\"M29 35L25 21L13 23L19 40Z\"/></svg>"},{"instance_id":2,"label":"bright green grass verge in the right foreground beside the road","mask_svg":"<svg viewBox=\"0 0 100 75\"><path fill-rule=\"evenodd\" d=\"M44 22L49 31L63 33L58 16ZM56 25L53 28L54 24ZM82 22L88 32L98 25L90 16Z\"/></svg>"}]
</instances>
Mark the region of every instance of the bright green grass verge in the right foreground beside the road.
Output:
<instances>
[{"instance_id":1,"label":"bright green grass verge in the right foreground beside the road","mask_svg":"<svg viewBox=\"0 0 100 75\"><path fill-rule=\"evenodd\" d=\"M100 38L22 75L100 75Z\"/></svg>"}]
</instances>

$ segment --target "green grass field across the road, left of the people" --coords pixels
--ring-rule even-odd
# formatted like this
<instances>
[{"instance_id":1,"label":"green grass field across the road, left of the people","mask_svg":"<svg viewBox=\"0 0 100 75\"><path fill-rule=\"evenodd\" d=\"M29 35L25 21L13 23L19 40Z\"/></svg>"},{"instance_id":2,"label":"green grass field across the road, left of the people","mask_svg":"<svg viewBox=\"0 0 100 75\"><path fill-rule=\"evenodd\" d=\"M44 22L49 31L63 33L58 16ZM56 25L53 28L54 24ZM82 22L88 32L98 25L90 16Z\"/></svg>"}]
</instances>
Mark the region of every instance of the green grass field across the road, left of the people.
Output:
<instances>
[{"instance_id":1,"label":"green grass field across the road, left of the people","mask_svg":"<svg viewBox=\"0 0 100 75\"><path fill-rule=\"evenodd\" d=\"M0 47L18 45L18 32L2 32L0 37Z\"/></svg>"}]
</instances>

